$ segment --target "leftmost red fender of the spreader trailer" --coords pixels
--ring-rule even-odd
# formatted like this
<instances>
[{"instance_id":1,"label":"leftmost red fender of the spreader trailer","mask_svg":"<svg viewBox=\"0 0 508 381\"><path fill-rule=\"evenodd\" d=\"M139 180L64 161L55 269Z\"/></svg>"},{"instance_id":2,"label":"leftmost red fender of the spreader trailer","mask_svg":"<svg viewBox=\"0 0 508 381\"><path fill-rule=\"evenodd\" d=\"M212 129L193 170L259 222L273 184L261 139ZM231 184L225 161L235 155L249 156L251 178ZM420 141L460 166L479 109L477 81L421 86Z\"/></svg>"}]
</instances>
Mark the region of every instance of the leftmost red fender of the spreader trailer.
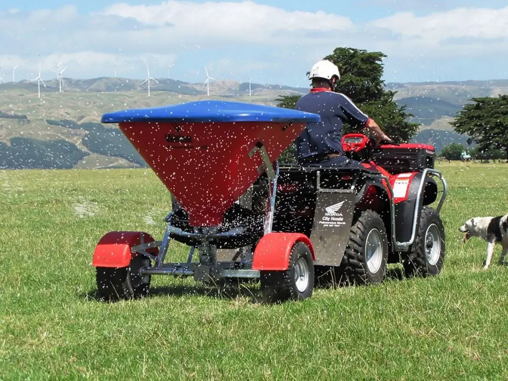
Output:
<instances>
[{"instance_id":1,"label":"leftmost red fender of the spreader trailer","mask_svg":"<svg viewBox=\"0 0 508 381\"><path fill-rule=\"evenodd\" d=\"M96 267L127 267L131 260L139 253L131 253L131 247L144 243L153 242L151 235L145 232L109 232L104 235L93 251L92 266ZM158 247L146 249L146 252L156 256Z\"/></svg>"}]
</instances>

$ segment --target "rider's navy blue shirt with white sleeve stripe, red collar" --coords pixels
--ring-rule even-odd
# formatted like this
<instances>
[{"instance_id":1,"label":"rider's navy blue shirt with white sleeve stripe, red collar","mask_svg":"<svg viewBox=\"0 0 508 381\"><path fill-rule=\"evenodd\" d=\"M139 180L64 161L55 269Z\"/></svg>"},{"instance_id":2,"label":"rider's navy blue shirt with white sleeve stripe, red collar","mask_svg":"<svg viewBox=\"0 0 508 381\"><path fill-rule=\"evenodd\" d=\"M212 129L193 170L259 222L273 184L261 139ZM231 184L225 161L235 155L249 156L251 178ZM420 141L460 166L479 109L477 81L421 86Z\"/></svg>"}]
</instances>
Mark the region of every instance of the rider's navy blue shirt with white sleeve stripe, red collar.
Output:
<instances>
[{"instance_id":1,"label":"rider's navy blue shirt with white sleeve stripe, red collar","mask_svg":"<svg viewBox=\"0 0 508 381\"><path fill-rule=\"evenodd\" d=\"M347 122L353 128L369 120L351 99L344 94L323 88L312 88L298 100L295 110L319 114L320 123L308 123L296 139L298 158L342 152L342 128Z\"/></svg>"}]
</instances>

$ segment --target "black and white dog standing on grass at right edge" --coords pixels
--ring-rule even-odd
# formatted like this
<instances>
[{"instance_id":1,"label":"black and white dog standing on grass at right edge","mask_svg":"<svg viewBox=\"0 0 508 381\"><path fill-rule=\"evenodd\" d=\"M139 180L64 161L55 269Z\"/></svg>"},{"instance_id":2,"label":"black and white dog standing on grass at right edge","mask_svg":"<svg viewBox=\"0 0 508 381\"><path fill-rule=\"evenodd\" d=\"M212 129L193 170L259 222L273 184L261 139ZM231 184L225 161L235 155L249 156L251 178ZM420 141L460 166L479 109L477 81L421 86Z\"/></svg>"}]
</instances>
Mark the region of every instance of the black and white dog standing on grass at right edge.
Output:
<instances>
[{"instance_id":1,"label":"black and white dog standing on grass at right edge","mask_svg":"<svg viewBox=\"0 0 508 381\"><path fill-rule=\"evenodd\" d=\"M484 269L488 269L494 246L500 244L502 246L499 264L504 264L504 257L508 252L508 214L497 217L474 217L468 219L459 231L466 233L462 242L466 242L470 237L479 237L487 242L487 260Z\"/></svg>"}]
</instances>

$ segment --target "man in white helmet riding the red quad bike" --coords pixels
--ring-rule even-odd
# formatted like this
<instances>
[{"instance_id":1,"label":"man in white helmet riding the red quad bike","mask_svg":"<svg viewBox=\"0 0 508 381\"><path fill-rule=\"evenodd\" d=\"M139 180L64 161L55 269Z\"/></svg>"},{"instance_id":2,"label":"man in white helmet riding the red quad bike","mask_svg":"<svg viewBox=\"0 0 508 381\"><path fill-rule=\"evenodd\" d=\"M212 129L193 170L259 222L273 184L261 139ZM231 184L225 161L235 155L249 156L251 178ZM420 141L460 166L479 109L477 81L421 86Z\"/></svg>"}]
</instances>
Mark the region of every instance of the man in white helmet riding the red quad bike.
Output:
<instances>
[{"instance_id":1,"label":"man in white helmet riding the red quad bike","mask_svg":"<svg viewBox=\"0 0 508 381\"><path fill-rule=\"evenodd\" d=\"M351 99L333 91L340 79L339 69L333 62L322 60L312 67L310 92L300 98L296 110L321 116L320 123L308 123L296 139L299 165L322 167L351 167L359 165L342 155L342 128L348 122L353 128L365 128L375 136L376 145L390 141L377 123L363 113Z\"/></svg>"}]
</instances>

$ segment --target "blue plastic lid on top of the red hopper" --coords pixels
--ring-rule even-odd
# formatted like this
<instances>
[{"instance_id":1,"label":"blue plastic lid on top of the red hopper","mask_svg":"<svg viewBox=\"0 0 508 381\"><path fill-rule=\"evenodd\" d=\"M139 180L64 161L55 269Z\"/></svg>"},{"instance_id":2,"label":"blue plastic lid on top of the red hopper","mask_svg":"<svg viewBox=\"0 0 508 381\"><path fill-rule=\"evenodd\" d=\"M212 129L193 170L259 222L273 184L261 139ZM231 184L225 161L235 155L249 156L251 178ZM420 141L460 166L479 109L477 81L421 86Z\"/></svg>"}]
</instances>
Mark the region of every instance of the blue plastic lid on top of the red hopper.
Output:
<instances>
[{"instance_id":1,"label":"blue plastic lid on top of the red hopper","mask_svg":"<svg viewBox=\"0 0 508 381\"><path fill-rule=\"evenodd\" d=\"M102 116L102 123L137 121L189 122L319 122L317 114L275 106L229 101L197 101L161 107L128 109Z\"/></svg>"}]
</instances>

